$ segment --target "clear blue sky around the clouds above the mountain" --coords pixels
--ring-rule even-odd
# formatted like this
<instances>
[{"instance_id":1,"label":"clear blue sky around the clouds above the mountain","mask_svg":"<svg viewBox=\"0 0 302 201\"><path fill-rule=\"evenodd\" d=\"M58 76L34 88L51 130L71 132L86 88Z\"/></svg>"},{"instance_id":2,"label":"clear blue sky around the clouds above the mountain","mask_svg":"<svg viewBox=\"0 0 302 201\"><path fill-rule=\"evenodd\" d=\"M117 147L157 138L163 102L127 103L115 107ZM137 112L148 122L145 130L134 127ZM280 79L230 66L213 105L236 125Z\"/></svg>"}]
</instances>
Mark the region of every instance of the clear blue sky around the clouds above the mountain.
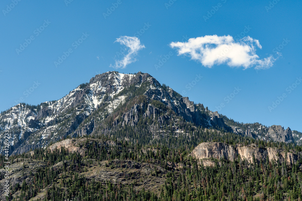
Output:
<instances>
[{"instance_id":1,"label":"clear blue sky around the clouds above the mountain","mask_svg":"<svg viewBox=\"0 0 302 201\"><path fill-rule=\"evenodd\" d=\"M301 1L67 1L0 3L0 110L20 99L34 105L60 99L95 74L142 71L235 121L302 131ZM279 57L257 70L227 62L206 67L203 57L178 55L194 38L214 35L229 35L237 45L250 36L262 46L255 45L259 60ZM115 61L127 55L117 54L125 48L115 42L120 36L137 37L144 47L125 68L115 69ZM28 46L16 51L24 42ZM172 42L182 44L172 48ZM68 57L56 66L63 52ZM165 63L156 68L160 61Z\"/></svg>"}]
</instances>

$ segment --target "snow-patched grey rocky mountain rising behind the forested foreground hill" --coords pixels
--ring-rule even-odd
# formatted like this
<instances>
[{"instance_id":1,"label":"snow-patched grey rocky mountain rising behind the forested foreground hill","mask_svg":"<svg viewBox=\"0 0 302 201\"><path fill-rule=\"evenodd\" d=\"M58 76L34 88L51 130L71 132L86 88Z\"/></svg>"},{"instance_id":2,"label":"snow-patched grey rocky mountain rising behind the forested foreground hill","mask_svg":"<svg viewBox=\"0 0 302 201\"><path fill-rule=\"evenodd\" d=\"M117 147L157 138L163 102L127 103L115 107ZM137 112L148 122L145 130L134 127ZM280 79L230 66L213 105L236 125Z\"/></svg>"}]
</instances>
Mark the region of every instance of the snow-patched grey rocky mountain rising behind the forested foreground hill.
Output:
<instances>
[{"instance_id":1,"label":"snow-patched grey rocky mountain rising behind the forested foreground hill","mask_svg":"<svg viewBox=\"0 0 302 201\"><path fill-rule=\"evenodd\" d=\"M123 110L117 112L117 108ZM140 118L146 117L159 122L160 127L172 122L175 124L175 118L181 118L195 127L225 130L261 140L295 142L289 128L284 131L281 126L274 130L258 123L239 124L190 101L188 97L182 97L147 73L121 74L113 71L96 75L62 99L37 106L20 103L2 112L0 150L3 151L5 130L10 133L10 153L17 154L46 147L67 136L98 135L108 132L112 126L134 126ZM105 125L109 119L111 125ZM156 129L146 128L148 132ZM179 127L173 129L175 136L183 132ZM296 143L300 141L296 137Z\"/></svg>"}]
</instances>

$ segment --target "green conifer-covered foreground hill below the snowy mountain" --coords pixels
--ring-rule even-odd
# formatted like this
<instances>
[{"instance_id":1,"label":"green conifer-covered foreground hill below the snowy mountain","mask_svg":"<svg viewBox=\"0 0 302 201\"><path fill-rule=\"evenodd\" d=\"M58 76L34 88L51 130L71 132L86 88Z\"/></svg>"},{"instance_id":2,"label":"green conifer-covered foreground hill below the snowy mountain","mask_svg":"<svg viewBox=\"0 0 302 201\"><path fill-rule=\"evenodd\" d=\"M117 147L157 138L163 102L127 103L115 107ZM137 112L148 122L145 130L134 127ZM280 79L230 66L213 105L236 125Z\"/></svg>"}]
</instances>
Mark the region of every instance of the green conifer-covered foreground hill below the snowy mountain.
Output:
<instances>
[{"instance_id":1,"label":"green conifer-covered foreground hill below the snowy mountain","mask_svg":"<svg viewBox=\"0 0 302 201\"><path fill-rule=\"evenodd\" d=\"M238 145L255 146L245 142ZM142 146L105 136L62 140L47 149L11 156L9 200L301 199L301 147L258 145L278 149L277 161L255 157L249 161L240 155L214 159L215 153L226 149L208 148L212 155L204 160L211 163L204 165L189 147L174 143ZM284 160L283 152L295 155L295 162ZM2 174L1 185L4 180ZM1 192L1 200L5 199Z\"/></svg>"}]
</instances>

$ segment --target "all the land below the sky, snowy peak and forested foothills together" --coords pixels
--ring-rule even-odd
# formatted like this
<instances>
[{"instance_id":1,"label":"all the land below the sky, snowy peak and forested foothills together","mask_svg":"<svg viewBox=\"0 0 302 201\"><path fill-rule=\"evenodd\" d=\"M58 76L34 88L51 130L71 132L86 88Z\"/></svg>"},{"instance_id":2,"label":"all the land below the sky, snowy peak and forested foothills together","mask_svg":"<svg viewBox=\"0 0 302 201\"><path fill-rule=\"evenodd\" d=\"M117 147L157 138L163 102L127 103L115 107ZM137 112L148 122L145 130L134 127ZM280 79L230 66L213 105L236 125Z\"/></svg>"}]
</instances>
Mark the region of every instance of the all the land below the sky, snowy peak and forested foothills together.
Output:
<instances>
[{"instance_id":1,"label":"all the land below the sky, snowy peak and forested foothills together","mask_svg":"<svg viewBox=\"0 0 302 201\"><path fill-rule=\"evenodd\" d=\"M302 198L300 132L236 122L146 73L99 74L2 112L2 152L5 131L9 200Z\"/></svg>"}]
</instances>

